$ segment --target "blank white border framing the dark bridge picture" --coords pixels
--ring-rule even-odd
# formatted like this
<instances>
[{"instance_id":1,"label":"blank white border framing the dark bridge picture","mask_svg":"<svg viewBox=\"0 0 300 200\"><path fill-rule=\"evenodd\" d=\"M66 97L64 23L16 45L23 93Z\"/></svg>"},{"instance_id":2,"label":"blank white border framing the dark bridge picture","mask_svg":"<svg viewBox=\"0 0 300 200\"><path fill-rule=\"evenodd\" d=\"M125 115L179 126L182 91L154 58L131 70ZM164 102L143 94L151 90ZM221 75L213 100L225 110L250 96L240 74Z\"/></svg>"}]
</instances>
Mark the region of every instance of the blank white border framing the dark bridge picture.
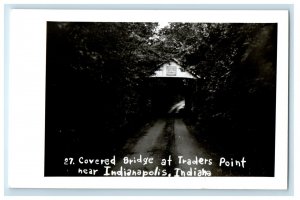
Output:
<instances>
[{"instance_id":1,"label":"blank white border framing the dark bridge picture","mask_svg":"<svg viewBox=\"0 0 300 200\"><path fill-rule=\"evenodd\" d=\"M278 23L274 178L45 178L46 21L189 21ZM9 30L9 165L11 188L286 189L288 131L287 11L12 10Z\"/></svg>"}]
</instances>

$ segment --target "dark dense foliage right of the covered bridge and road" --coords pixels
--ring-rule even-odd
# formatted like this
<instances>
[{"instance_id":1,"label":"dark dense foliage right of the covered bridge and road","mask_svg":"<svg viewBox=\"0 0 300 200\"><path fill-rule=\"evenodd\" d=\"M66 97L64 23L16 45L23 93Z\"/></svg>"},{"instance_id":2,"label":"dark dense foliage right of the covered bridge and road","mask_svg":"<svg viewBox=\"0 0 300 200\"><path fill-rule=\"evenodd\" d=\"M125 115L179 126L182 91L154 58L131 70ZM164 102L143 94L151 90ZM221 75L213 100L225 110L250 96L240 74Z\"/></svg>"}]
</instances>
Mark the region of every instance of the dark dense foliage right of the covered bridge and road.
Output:
<instances>
[{"instance_id":1,"label":"dark dense foliage right of the covered bridge and road","mask_svg":"<svg viewBox=\"0 0 300 200\"><path fill-rule=\"evenodd\" d=\"M198 77L187 122L199 138L224 153L248 152L257 167L271 163L261 173L272 171L277 25L173 23L161 34Z\"/></svg>"}]
</instances>

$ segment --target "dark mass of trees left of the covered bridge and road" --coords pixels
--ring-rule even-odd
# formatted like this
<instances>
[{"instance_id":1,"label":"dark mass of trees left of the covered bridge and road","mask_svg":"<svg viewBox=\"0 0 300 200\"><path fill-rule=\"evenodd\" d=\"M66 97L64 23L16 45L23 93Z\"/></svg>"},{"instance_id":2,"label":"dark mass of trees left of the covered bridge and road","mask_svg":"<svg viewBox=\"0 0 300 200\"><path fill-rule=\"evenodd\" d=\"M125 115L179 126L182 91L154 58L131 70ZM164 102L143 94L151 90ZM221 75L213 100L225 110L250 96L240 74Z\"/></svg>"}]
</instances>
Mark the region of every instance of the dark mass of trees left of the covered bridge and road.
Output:
<instances>
[{"instance_id":1,"label":"dark mass of trees left of the covered bridge and road","mask_svg":"<svg viewBox=\"0 0 300 200\"><path fill-rule=\"evenodd\" d=\"M153 50L156 26L47 24L46 136L62 152L113 150L142 122L145 79L163 60Z\"/></svg>"}]
</instances>

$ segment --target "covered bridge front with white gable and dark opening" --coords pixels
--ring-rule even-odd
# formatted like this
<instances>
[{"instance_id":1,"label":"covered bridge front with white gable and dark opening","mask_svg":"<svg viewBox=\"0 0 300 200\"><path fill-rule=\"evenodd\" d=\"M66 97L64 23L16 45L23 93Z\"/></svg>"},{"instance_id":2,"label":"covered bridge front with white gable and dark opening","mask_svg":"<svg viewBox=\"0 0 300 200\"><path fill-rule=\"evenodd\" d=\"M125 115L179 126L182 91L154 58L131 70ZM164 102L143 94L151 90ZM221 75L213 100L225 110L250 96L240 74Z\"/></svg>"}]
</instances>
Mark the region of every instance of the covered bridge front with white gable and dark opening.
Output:
<instances>
[{"instance_id":1,"label":"covered bridge front with white gable and dark opening","mask_svg":"<svg viewBox=\"0 0 300 200\"><path fill-rule=\"evenodd\" d=\"M152 111L159 116L183 115L193 108L196 78L176 62L162 65L150 77Z\"/></svg>"}]
</instances>

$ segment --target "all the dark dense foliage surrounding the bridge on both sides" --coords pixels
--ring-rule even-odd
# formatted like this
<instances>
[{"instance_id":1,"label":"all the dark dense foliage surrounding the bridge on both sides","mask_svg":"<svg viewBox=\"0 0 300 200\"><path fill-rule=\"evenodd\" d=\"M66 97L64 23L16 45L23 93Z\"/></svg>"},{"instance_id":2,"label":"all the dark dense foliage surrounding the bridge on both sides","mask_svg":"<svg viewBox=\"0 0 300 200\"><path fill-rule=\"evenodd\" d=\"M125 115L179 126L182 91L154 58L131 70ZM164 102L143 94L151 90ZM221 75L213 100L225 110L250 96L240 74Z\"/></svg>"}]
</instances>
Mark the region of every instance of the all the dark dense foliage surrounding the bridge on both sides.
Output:
<instances>
[{"instance_id":1,"label":"all the dark dense foliage surrounding the bridge on both sides","mask_svg":"<svg viewBox=\"0 0 300 200\"><path fill-rule=\"evenodd\" d=\"M148 77L176 59L197 77L186 122L198 138L272 161L277 25L157 26L47 24L46 139L57 144L49 151L118 148L153 111Z\"/></svg>"}]
</instances>

